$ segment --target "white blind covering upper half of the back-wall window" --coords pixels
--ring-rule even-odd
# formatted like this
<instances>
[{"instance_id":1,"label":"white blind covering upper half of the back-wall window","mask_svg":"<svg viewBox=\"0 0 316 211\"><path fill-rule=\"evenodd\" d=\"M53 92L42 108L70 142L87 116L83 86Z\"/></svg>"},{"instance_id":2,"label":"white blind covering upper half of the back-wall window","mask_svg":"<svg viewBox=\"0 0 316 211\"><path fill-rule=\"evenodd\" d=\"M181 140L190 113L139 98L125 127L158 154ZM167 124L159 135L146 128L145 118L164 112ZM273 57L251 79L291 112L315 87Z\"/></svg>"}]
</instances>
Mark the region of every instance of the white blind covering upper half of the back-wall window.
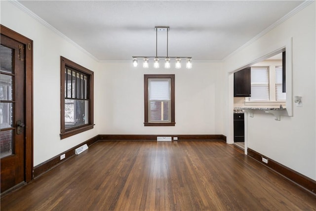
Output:
<instances>
[{"instance_id":1,"label":"white blind covering upper half of the back-wall window","mask_svg":"<svg viewBox=\"0 0 316 211\"><path fill-rule=\"evenodd\" d=\"M149 80L149 100L170 99L170 79Z\"/></svg>"}]
</instances>

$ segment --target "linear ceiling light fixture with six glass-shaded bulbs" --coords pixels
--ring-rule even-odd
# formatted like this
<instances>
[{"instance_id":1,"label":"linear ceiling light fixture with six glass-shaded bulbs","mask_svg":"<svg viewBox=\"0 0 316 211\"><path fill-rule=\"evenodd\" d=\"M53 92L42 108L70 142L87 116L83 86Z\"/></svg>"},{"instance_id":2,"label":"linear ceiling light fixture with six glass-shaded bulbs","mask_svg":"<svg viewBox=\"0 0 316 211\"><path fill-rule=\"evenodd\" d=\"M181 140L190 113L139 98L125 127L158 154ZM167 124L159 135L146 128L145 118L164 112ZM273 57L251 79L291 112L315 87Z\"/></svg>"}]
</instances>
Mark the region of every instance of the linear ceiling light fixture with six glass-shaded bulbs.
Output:
<instances>
[{"instance_id":1,"label":"linear ceiling light fixture with six glass-shaded bulbs","mask_svg":"<svg viewBox=\"0 0 316 211\"><path fill-rule=\"evenodd\" d=\"M186 68L191 69L192 68L192 57L191 56L168 56L168 31L169 27L168 26L156 26L156 56L132 56L133 57L133 66L137 67L138 58L143 58L143 68L148 68L149 67L149 58L154 59L154 68L159 68L159 58L164 58L164 68L169 69L171 67L171 60L170 59L175 59L175 68L180 69L181 68L181 58L185 58L187 63L186 63ZM158 31L159 32L166 32L167 34L167 55L166 56L158 56L157 55L157 36L158 36Z\"/></svg>"}]
</instances>

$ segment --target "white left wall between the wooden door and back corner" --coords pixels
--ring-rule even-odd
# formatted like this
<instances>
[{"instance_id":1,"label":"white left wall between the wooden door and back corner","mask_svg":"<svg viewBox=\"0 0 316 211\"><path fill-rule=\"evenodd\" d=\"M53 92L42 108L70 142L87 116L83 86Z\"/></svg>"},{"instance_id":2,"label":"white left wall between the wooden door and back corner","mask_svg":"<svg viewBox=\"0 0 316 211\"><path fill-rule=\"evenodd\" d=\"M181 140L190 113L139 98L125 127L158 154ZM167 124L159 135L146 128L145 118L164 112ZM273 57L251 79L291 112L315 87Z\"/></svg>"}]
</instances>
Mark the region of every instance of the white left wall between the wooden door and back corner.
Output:
<instances>
[{"instance_id":1,"label":"white left wall between the wooden door and back corner","mask_svg":"<svg viewBox=\"0 0 316 211\"><path fill-rule=\"evenodd\" d=\"M99 134L100 124L95 121L92 130L62 140L59 136L60 56L94 71L96 86L100 84L98 62L8 1L1 1L1 24L33 40L34 166ZM99 104L98 97L94 103Z\"/></svg>"}]
</instances>

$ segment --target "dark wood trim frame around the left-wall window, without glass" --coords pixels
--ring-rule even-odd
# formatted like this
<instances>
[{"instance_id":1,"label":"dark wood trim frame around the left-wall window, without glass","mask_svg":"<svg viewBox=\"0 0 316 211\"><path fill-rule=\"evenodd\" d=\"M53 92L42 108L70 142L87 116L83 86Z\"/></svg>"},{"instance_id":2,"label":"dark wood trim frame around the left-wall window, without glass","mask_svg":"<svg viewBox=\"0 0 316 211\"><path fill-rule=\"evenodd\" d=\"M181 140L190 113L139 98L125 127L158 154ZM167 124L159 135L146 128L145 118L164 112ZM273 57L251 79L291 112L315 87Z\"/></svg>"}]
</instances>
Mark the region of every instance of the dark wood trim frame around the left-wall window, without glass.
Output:
<instances>
[{"instance_id":1,"label":"dark wood trim frame around the left-wall window, without glass","mask_svg":"<svg viewBox=\"0 0 316 211\"><path fill-rule=\"evenodd\" d=\"M79 127L65 128L65 68L73 69L76 72L87 76L87 100L88 100L88 123ZM85 67L61 56L60 57L60 138L78 134L93 128L93 72Z\"/></svg>"}]
</instances>

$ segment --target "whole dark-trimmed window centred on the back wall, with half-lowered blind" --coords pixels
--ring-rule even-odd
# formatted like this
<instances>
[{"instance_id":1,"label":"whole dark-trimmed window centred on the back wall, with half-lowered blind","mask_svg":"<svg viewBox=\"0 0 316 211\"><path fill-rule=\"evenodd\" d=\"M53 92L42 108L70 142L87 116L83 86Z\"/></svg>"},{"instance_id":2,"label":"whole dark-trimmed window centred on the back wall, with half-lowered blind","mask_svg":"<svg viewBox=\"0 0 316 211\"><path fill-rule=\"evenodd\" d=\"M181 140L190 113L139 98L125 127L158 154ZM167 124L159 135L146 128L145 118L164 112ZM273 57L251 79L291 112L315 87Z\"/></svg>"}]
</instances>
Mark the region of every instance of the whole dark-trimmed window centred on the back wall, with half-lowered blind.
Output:
<instances>
[{"instance_id":1,"label":"whole dark-trimmed window centred on the back wall, with half-lowered blind","mask_svg":"<svg viewBox=\"0 0 316 211\"><path fill-rule=\"evenodd\" d=\"M144 126L175 126L174 75L144 75Z\"/></svg>"}]
</instances>

